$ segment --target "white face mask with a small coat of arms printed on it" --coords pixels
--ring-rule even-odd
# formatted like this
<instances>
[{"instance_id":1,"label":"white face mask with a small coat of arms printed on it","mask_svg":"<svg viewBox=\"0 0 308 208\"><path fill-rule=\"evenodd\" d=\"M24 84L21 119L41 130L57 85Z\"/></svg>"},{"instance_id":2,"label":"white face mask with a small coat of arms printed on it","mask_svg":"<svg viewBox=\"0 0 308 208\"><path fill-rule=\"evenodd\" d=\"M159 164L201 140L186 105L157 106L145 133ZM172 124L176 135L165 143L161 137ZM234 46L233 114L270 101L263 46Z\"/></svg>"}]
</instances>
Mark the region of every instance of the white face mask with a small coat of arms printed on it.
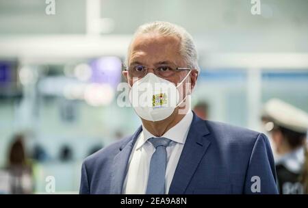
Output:
<instances>
[{"instance_id":1,"label":"white face mask with a small coat of arms printed on it","mask_svg":"<svg viewBox=\"0 0 308 208\"><path fill-rule=\"evenodd\" d=\"M133 83L129 92L129 100L136 114L144 120L158 121L168 118L175 108L181 105L185 98L179 102L179 86L190 75L175 86L174 83L148 73L142 79Z\"/></svg>"}]
</instances>

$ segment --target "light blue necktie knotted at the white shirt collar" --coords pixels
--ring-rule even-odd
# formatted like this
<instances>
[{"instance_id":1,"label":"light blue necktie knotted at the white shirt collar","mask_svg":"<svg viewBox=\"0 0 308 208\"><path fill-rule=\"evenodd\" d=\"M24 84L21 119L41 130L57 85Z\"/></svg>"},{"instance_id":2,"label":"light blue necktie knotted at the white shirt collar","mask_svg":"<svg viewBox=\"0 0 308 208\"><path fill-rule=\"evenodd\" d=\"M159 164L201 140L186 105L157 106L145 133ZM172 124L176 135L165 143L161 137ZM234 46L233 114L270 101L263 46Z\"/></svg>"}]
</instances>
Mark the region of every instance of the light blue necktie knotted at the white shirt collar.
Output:
<instances>
[{"instance_id":1,"label":"light blue necktie knotted at the white shirt collar","mask_svg":"<svg viewBox=\"0 0 308 208\"><path fill-rule=\"evenodd\" d=\"M150 138L149 142L153 144L156 151L151 157L146 194L165 194L166 146L168 146L171 140L167 138Z\"/></svg>"}]
</instances>

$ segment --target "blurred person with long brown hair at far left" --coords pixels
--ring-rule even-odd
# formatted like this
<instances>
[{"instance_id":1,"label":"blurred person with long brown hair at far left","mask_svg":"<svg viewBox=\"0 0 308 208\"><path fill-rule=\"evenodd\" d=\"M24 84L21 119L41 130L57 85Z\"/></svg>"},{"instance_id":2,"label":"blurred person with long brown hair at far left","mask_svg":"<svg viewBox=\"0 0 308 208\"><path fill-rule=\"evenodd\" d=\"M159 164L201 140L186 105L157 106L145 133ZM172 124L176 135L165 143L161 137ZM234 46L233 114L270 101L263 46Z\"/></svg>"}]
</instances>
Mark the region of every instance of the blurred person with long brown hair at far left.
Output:
<instances>
[{"instance_id":1,"label":"blurred person with long brown hair at far left","mask_svg":"<svg viewBox=\"0 0 308 208\"><path fill-rule=\"evenodd\" d=\"M8 171L10 173L11 194L31 194L32 168L25 153L24 136L15 135L8 155Z\"/></svg>"}]
</instances>

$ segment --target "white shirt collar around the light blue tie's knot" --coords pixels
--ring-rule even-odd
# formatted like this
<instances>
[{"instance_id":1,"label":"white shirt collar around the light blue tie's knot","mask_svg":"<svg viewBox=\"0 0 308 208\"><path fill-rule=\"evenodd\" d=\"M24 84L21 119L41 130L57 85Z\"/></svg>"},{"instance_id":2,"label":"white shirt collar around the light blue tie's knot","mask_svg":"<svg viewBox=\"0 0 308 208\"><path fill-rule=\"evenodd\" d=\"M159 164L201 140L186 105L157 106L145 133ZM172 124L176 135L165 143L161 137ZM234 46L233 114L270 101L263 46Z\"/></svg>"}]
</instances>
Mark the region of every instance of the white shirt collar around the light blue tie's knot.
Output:
<instances>
[{"instance_id":1,"label":"white shirt collar around the light blue tie's knot","mask_svg":"<svg viewBox=\"0 0 308 208\"><path fill-rule=\"evenodd\" d=\"M187 138L188 129L190 128L190 124L192 123L192 111L188 112L180 122L177 123L174 127L169 129L164 135L162 135L163 138L168 138L169 140L172 140L173 142L177 142L180 144L184 144L185 140ZM138 142L136 144L136 150L138 148L142 147L143 144L149 140L149 138L156 138L155 135L150 133L144 125L142 125L142 132L140 133L140 138L138 139Z\"/></svg>"}]
</instances>

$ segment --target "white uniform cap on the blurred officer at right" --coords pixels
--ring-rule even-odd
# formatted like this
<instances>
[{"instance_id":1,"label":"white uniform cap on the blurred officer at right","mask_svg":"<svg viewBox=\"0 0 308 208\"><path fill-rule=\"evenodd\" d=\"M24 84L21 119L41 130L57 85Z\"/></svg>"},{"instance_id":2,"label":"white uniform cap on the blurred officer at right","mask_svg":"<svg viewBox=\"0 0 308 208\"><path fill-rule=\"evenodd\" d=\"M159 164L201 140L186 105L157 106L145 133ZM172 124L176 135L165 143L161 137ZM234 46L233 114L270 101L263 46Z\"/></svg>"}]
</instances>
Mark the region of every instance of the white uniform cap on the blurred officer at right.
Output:
<instances>
[{"instance_id":1,"label":"white uniform cap on the blurred officer at right","mask_svg":"<svg viewBox=\"0 0 308 208\"><path fill-rule=\"evenodd\" d=\"M281 127L298 133L307 133L308 114L289 103L279 99L270 99L264 105L263 113L264 116L269 117L275 124Z\"/></svg>"}]
</instances>

